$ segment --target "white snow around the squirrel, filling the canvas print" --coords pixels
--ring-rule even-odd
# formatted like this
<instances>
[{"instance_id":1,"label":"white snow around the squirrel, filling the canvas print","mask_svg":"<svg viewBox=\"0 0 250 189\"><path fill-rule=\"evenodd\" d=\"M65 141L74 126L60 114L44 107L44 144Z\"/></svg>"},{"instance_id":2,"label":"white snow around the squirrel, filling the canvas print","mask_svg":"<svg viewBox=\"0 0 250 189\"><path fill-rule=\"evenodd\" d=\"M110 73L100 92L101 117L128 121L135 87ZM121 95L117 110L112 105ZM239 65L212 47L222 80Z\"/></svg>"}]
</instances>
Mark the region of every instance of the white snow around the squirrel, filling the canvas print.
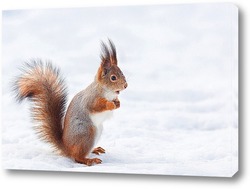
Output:
<instances>
[{"instance_id":1,"label":"white snow around the squirrel, filling the canvas print","mask_svg":"<svg viewBox=\"0 0 250 189\"><path fill-rule=\"evenodd\" d=\"M3 12L2 152L7 169L232 176L238 170L237 8L189 4ZM30 58L61 68L69 100L93 80L100 40L129 87L104 124L102 164L54 153L11 82ZM95 155L91 155L95 156Z\"/></svg>"}]
</instances>

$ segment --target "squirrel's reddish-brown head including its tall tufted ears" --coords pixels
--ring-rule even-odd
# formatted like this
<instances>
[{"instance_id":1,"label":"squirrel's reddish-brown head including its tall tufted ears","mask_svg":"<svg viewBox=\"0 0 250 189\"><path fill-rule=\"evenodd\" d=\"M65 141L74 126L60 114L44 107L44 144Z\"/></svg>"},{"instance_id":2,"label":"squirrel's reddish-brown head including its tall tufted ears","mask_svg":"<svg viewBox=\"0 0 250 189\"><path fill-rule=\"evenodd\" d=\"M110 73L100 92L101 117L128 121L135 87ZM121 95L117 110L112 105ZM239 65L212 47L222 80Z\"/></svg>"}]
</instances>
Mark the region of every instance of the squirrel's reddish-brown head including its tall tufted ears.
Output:
<instances>
[{"instance_id":1,"label":"squirrel's reddish-brown head including its tall tufted ears","mask_svg":"<svg viewBox=\"0 0 250 189\"><path fill-rule=\"evenodd\" d=\"M117 66L116 48L111 40L109 46L102 42L101 65L98 69L96 79L102 86L119 94L127 88L125 76Z\"/></svg>"}]
</instances>

